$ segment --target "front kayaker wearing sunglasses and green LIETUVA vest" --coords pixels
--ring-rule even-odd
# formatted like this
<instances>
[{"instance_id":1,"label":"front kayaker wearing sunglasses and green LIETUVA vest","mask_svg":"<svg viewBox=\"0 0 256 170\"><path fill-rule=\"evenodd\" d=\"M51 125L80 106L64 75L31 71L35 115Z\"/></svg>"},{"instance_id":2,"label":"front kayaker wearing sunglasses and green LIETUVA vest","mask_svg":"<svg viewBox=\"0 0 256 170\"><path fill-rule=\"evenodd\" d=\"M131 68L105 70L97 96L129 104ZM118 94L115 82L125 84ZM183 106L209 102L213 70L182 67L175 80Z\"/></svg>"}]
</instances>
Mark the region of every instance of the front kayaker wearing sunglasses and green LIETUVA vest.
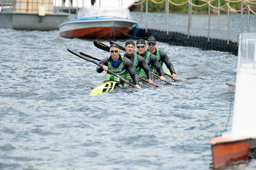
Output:
<instances>
[{"instance_id":1,"label":"front kayaker wearing sunglasses and green LIETUVA vest","mask_svg":"<svg viewBox=\"0 0 256 170\"><path fill-rule=\"evenodd\" d=\"M112 71L113 73L116 73L117 75L120 75L121 77L127 79L128 76L131 76L133 79L133 82L135 84L135 87L141 88L139 85L138 75L134 70L134 67L130 61L130 59L125 58L121 56L120 48L118 44L113 43L110 45L109 49L111 56L108 58L102 59L99 64L102 65L103 69L100 66L97 66L96 71L98 73L102 73L102 71ZM130 75L129 75L130 74ZM114 75L105 75L105 81L106 80L117 80L117 77Z\"/></svg>"}]
</instances>

